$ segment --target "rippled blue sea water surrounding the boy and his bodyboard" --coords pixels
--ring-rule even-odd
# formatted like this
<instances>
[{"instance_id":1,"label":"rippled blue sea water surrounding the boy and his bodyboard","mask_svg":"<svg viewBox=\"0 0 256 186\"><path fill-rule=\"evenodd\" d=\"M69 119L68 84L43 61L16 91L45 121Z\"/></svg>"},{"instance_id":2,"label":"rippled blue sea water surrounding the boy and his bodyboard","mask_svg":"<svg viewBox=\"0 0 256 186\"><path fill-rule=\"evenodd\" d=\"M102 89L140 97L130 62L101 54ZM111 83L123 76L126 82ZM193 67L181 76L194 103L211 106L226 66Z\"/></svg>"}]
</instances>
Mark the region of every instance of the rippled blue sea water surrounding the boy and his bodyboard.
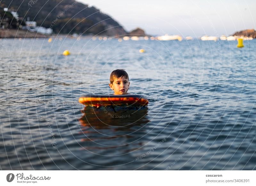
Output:
<instances>
[{"instance_id":1,"label":"rippled blue sea water surrounding the boy and his bodyboard","mask_svg":"<svg viewBox=\"0 0 256 186\"><path fill-rule=\"evenodd\" d=\"M256 169L256 40L0 43L2 170ZM78 102L120 68L148 107Z\"/></svg>"}]
</instances>

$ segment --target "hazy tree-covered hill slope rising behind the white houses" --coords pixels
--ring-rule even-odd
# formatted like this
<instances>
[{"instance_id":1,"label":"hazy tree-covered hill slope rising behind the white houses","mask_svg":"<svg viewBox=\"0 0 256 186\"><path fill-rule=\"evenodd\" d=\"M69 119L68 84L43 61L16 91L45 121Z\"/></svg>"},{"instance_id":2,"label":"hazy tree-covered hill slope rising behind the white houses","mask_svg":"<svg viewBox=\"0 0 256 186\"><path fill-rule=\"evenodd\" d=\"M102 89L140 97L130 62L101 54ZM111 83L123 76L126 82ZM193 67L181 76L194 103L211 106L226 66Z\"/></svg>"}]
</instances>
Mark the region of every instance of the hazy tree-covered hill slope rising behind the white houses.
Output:
<instances>
[{"instance_id":1,"label":"hazy tree-covered hill slope rising behind the white houses","mask_svg":"<svg viewBox=\"0 0 256 186\"><path fill-rule=\"evenodd\" d=\"M95 7L75 0L2 0L0 8L19 13L19 17L36 21L37 26L51 27L61 34L123 35L126 31L114 19Z\"/></svg>"}]
</instances>

